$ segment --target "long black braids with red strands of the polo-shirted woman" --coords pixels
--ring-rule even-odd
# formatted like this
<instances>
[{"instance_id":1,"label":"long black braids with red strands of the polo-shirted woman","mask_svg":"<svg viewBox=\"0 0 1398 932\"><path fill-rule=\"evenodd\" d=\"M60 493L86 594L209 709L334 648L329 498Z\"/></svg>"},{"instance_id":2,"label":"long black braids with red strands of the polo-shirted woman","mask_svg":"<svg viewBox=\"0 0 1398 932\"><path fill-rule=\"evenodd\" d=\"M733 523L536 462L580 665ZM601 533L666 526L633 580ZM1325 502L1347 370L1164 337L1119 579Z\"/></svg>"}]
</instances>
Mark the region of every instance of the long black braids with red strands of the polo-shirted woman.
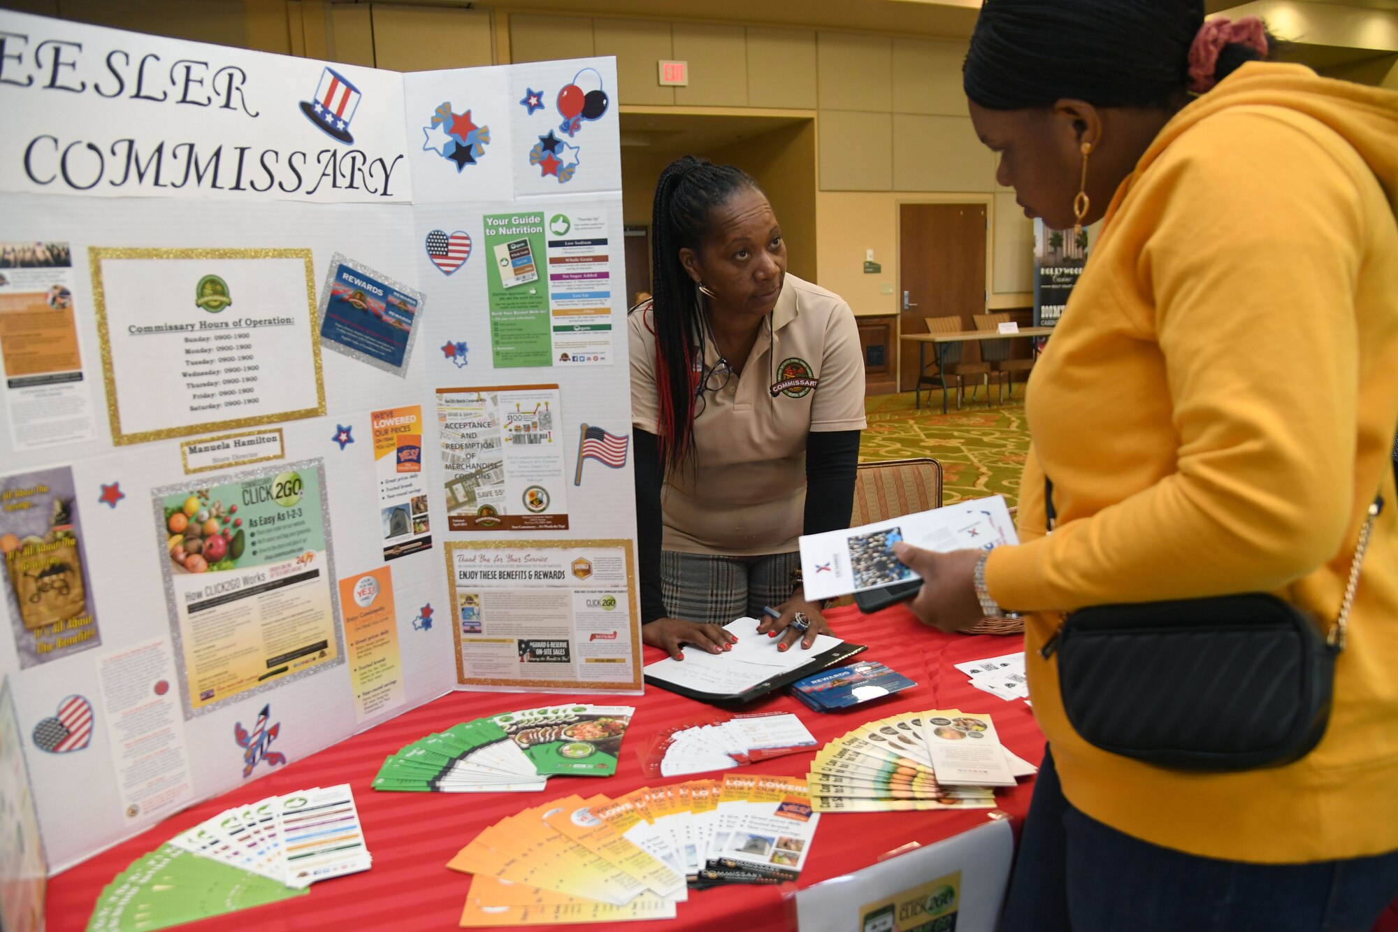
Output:
<instances>
[{"instance_id":1,"label":"long black braids with red strands of the polo-shirted woman","mask_svg":"<svg viewBox=\"0 0 1398 932\"><path fill-rule=\"evenodd\" d=\"M744 189L761 190L737 165L714 165L695 155L667 165L656 183L650 294L660 409L657 438L667 476L679 470L693 452L695 392L703 362L699 288L679 262L679 250L699 252L714 209Z\"/></svg>"}]
</instances>

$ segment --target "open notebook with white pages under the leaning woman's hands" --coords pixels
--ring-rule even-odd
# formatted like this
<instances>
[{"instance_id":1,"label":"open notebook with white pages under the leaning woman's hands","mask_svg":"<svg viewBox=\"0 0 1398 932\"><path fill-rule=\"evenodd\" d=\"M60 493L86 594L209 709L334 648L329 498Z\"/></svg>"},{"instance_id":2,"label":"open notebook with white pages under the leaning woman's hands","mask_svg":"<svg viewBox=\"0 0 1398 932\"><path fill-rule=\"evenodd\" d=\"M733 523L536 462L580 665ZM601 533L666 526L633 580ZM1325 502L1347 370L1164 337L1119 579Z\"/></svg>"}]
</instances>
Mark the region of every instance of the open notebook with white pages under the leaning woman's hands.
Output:
<instances>
[{"instance_id":1,"label":"open notebook with white pages under the leaning woman's hands","mask_svg":"<svg viewBox=\"0 0 1398 932\"><path fill-rule=\"evenodd\" d=\"M795 645L779 651L780 638L759 635L758 624L756 619L726 624L724 628L738 638L731 651L709 654L686 647L684 661L667 656L647 665L646 682L702 702L748 702L867 649L821 634L811 649Z\"/></svg>"}]
</instances>

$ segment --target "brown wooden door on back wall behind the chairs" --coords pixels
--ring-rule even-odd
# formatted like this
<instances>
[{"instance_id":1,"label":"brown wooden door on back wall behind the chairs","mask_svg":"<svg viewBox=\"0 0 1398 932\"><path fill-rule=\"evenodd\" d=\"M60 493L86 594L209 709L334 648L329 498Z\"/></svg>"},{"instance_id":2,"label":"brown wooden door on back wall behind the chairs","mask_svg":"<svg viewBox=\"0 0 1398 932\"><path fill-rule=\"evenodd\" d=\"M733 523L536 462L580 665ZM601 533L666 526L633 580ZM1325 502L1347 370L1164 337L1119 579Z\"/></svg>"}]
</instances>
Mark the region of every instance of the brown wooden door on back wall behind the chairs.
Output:
<instances>
[{"instance_id":1,"label":"brown wooden door on back wall behind the chairs","mask_svg":"<svg viewBox=\"0 0 1398 932\"><path fill-rule=\"evenodd\" d=\"M898 210L902 333L927 333L923 318L959 316L974 330L972 315L986 309L986 204L900 204ZM906 299L905 299L906 295ZM917 343L899 340L899 390L917 385ZM927 347L927 360L934 360ZM967 343L963 362L980 360Z\"/></svg>"}]
</instances>

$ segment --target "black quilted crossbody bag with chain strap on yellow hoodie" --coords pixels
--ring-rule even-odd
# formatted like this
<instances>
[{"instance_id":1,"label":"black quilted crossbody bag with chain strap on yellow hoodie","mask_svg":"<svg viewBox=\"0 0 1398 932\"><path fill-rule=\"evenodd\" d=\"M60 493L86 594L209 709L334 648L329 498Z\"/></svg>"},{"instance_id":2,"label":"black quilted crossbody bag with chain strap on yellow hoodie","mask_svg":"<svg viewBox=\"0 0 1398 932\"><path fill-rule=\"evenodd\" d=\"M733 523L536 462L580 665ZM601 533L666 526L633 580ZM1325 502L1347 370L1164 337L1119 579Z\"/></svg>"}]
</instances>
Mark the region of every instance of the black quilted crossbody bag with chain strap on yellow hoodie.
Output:
<instances>
[{"instance_id":1,"label":"black quilted crossbody bag with chain strap on yellow hoodie","mask_svg":"<svg viewBox=\"0 0 1398 932\"><path fill-rule=\"evenodd\" d=\"M1058 656L1062 707L1088 743L1191 771L1281 767L1304 757L1329 721L1335 658L1359 584L1376 497L1359 532L1328 634L1265 592L1102 605L1064 616L1040 649ZM1044 479L1047 529L1057 519Z\"/></svg>"}]
</instances>

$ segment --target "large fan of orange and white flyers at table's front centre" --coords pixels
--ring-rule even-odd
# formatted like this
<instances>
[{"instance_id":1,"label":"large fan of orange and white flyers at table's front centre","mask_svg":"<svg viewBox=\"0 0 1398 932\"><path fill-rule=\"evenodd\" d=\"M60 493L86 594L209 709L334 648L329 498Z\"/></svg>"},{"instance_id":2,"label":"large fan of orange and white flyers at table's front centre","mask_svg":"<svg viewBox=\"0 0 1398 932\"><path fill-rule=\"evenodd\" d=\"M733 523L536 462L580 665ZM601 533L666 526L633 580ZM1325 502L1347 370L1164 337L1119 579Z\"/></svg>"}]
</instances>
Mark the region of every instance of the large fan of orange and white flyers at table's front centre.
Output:
<instances>
[{"instance_id":1,"label":"large fan of orange and white flyers at table's front centre","mask_svg":"<svg viewBox=\"0 0 1398 932\"><path fill-rule=\"evenodd\" d=\"M447 866L473 875L463 928L664 919L689 889L794 880L818 823L804 779L724 774L533 806Z\"/></svg>"}]
</instances>

